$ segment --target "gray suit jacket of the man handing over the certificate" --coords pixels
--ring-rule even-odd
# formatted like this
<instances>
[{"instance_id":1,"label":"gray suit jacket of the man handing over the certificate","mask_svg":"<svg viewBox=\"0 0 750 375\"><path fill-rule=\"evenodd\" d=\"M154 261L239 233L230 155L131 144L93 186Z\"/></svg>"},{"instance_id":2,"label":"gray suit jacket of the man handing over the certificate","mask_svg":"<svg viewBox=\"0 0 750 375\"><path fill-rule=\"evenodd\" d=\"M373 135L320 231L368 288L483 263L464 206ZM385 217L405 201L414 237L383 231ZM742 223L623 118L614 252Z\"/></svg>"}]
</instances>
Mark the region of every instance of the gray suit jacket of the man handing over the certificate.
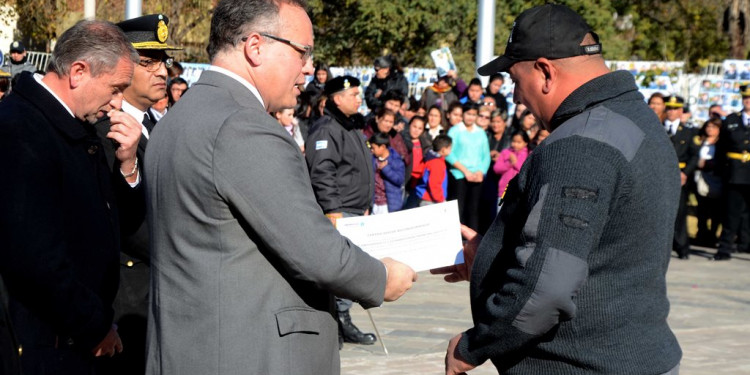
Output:
<instances>
[{"instance_id":1,"label":"gray suit jacket of the man handing over the certificate","mask_svg":"<svg viewBox=\"0 0 750 375\"><path fill-rule=\"evenodd\" d=\"M338 374L333 297L383 301L386 272L315 201L289 134L206 71L146 151L147 374Z\"/></svg>"}]
</instances>

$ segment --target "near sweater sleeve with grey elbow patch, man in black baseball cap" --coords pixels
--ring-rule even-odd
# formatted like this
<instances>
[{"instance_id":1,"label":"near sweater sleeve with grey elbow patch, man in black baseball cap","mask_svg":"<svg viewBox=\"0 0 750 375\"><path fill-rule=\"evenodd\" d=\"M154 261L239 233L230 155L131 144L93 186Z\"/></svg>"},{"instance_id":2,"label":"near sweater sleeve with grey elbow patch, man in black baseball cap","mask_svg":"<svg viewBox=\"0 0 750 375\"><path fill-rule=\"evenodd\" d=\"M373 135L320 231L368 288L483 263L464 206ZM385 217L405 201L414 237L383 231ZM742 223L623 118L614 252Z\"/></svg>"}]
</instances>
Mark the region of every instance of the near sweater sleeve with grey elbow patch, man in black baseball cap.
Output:
<instances>
[{"instance_id":1,"label":"near sweater sleeve with grey elbow patch, man in black baseball cap","mask_svg":"<svg viewBox=\"0 0 750 375\"><path fill-rule=\"evenodd\" d=\"M471 364L503 361L575 319L576 294L588 277L587 258L602 236L627 162L610 146L571 138L535 152L520 187L526 193L516 189L506 195L530 210L517 247L500 250L515 256L504 257L509 263L502 269L486 272L490 266L485 264L496 258L484 259L482 253L498 244L480 246L472 276L475 325L458 344ZM484 278L493 278L494 286L476 292L476 285L487 285Z\"/></svg>"}]
</instances>

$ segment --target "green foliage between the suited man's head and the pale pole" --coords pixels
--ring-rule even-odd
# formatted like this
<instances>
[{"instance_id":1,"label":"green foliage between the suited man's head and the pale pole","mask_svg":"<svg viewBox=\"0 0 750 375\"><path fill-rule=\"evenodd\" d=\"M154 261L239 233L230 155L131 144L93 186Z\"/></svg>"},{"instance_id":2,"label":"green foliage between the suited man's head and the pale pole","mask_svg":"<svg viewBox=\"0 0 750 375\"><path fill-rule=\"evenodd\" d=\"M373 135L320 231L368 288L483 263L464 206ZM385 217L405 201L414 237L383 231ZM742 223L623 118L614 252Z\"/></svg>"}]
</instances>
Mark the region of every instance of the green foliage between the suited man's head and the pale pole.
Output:
<instances>
[{"instance_id":1,"label":"green foliage between the suited man's head and the pale pole","mask_svg":"<svg viewBox=\"0 0 750 375\"><path fill-rule=\"evenodd\" d=\"M393 53L404 66L433 66L430 52L449 46L459 72L474 72L476 0L312 0L315 59L370 65Z\"/></svg>"}]
</instances>

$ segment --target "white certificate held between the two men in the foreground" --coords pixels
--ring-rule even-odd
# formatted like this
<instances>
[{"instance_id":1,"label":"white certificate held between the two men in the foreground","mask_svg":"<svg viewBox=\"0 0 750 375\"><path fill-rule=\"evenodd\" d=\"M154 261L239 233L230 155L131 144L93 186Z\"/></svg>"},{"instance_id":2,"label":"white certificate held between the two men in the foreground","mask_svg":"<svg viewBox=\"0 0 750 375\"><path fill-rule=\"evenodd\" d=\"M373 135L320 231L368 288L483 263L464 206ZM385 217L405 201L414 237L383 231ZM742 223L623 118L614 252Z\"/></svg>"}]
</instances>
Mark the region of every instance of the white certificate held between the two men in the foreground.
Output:
<instances>
[{"instance_id":1,"label":"white certificate held between the two men in the foreground","mask_svg":"<svg viewBox=\"0 0 750 375\"><path fill-rule=\"evenodd\" d=\"M372 257L391 257L417 272L464 261L456 201L338 219L336 229Z\"/></svg>"}]
</instances>

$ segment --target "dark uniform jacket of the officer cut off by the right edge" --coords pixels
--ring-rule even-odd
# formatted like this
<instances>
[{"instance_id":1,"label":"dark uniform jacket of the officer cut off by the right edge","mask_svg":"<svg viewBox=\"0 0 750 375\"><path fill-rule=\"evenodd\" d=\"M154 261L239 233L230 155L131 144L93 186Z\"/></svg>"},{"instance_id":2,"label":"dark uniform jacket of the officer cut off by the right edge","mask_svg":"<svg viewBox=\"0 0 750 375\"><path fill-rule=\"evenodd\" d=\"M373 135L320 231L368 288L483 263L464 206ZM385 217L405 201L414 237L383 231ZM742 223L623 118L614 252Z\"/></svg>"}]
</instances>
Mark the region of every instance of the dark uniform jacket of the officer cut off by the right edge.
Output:
<instances>
[{"instance_id":1,"label":"dark uniform jacket of the officer cut off by the right edge","mask_svg":"<svg viewBox=\"0 0 750 375\"><path fill-rule=\"evenodd\" d=\"M727 153L734 158L729 157ZM724 120L716 143L716 165L730 184L750 184L750 127L742 123L742 113L732 113ZM737 159L739 155L744 159Z\"/></svg>"}]
</instances>

